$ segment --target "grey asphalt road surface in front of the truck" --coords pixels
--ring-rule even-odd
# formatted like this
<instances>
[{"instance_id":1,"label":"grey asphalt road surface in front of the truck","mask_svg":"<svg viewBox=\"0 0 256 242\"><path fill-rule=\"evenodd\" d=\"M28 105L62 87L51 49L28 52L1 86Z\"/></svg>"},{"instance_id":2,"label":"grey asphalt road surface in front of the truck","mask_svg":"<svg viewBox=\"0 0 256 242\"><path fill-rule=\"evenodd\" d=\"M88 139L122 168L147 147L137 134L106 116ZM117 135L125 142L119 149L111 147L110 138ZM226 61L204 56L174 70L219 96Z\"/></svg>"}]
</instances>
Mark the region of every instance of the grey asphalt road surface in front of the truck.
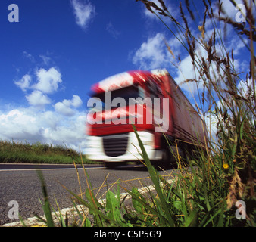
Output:
<instances>
[{"instance_id":1,"label":"grey asphalt road surface in front of the truck","mask_svg":"<svg viewBox=\"0 0 256 242\"><path fill-rule=\"evenodd\" d=\"M39 216L43 215L42 206L39 202L39 198L42 200L42 187L36 172L36 166L42 170L52 206L55 206L55 197L60 209L73 206L70 201L70 194L62 185L76 194L80 194L78 176L82 192L86 190L86 178L81 166L78 167L79 175L77 175L73 165L0 163L0 226L5 223L19 221L19 219L10 219L8 216L10 209L14 207L14 203L11 204L11 201L17 202L19 213L23 219L33 217L35 213ZM126 188L151 184L150 179L147 178L148 170L143 166L117 166L116 169L105 169L101 165L86 165L86 171L89 174L95 193L99 191L97 197L101 197L117 181ZM160 173L168 175L170 172L171 170L167 170ZM141 178L142 183L138 182L138 178ZM113 188L116 188L116 185L111 189ZM122 188L121 192L123 192ZM55 206L55 209L57 209L57 206Z\"/></svg>"}]
</instances>

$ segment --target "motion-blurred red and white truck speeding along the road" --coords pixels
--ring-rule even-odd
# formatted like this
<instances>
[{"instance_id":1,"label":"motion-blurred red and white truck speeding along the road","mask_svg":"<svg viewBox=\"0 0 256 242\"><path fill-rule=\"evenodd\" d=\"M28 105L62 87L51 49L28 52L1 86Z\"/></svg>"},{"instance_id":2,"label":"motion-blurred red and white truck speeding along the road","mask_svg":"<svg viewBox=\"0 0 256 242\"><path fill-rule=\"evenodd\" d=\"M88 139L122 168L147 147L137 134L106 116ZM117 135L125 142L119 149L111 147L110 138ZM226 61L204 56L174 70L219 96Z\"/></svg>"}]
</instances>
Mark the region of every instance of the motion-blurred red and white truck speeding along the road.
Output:
<instances>
[{"instance_id":1,"label":"motion-blurred red and white truck speeding along the road","mask_svg":"<svg viewBox=\"0 0 256 242\"><path fill-rule=\"evenodd\" d=\"M192 154L205 144L203 120L167 70L108 77L92 86L87 105L86 154L106 166L142 159L133 125L152 162L170 163L171 150Z\"/></svg>"}]
</instances>

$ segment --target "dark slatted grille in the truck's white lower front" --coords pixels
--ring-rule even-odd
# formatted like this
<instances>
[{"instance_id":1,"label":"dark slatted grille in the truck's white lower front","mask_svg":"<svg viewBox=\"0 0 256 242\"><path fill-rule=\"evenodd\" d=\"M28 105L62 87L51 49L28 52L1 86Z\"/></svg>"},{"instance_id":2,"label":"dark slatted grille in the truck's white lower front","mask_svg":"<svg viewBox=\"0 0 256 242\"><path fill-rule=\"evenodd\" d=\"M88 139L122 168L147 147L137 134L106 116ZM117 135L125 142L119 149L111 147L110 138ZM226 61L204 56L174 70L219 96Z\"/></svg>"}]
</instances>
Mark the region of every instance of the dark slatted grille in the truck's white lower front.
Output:
<instances>
[{"instance_id":1,"label":"dark slatted grille in the truck's white lower front","mask_svg":"<svg viewBox=\"0 0 256 242\"><path fill-rule=\"evenodd\" d=\"M126 153L128 134L103 136L103 147L108 157L118 157Z\"/></svg>"}]
</instances>

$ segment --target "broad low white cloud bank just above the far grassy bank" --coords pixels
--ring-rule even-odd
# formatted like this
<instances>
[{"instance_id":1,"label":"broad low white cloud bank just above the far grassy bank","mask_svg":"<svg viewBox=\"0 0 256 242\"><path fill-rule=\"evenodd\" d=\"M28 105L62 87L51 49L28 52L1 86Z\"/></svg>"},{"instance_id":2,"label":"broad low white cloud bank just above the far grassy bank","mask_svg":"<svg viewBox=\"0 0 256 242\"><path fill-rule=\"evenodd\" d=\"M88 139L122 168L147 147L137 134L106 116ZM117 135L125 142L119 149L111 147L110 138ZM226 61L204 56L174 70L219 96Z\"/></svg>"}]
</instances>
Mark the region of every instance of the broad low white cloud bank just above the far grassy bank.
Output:
<instances>
[{"instance_id":1,"label":"broad low white cloud bank just above the far grassy bank","mask_svg":"<svg viewBox=\"0 0 256 242\"><path fill-rule=\"evenodd\" d=\"M39 111L33 107L0 111L0 139L51 144L67 144L83 152L85 148L86 113L63 117L53 111Z\"/></svg>"}]
</instances>

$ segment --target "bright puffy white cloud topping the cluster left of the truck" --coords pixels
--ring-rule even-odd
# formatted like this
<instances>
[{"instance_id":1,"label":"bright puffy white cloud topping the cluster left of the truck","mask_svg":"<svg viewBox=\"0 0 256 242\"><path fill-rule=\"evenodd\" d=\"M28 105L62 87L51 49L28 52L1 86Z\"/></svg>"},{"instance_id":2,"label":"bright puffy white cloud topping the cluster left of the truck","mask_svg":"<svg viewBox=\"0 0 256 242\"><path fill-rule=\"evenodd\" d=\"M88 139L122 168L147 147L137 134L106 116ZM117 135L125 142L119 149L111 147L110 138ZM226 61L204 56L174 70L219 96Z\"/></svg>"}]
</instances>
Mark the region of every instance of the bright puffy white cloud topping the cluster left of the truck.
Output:
<instances>
[{"instance_id":1,"label":"bright puffy white cloud topping the cluster left of the truck","mask_svg":"<svg viewBox=\"0 0 256 242\"><path fill-rule=\"evenodd\" d=\"M59 83L62 82L61 73L55 67L49 70L45 70L44 68L36 70L36 77L38 82L32 88L44 93L57 91Z\"/></svg>"}]
</instances>

